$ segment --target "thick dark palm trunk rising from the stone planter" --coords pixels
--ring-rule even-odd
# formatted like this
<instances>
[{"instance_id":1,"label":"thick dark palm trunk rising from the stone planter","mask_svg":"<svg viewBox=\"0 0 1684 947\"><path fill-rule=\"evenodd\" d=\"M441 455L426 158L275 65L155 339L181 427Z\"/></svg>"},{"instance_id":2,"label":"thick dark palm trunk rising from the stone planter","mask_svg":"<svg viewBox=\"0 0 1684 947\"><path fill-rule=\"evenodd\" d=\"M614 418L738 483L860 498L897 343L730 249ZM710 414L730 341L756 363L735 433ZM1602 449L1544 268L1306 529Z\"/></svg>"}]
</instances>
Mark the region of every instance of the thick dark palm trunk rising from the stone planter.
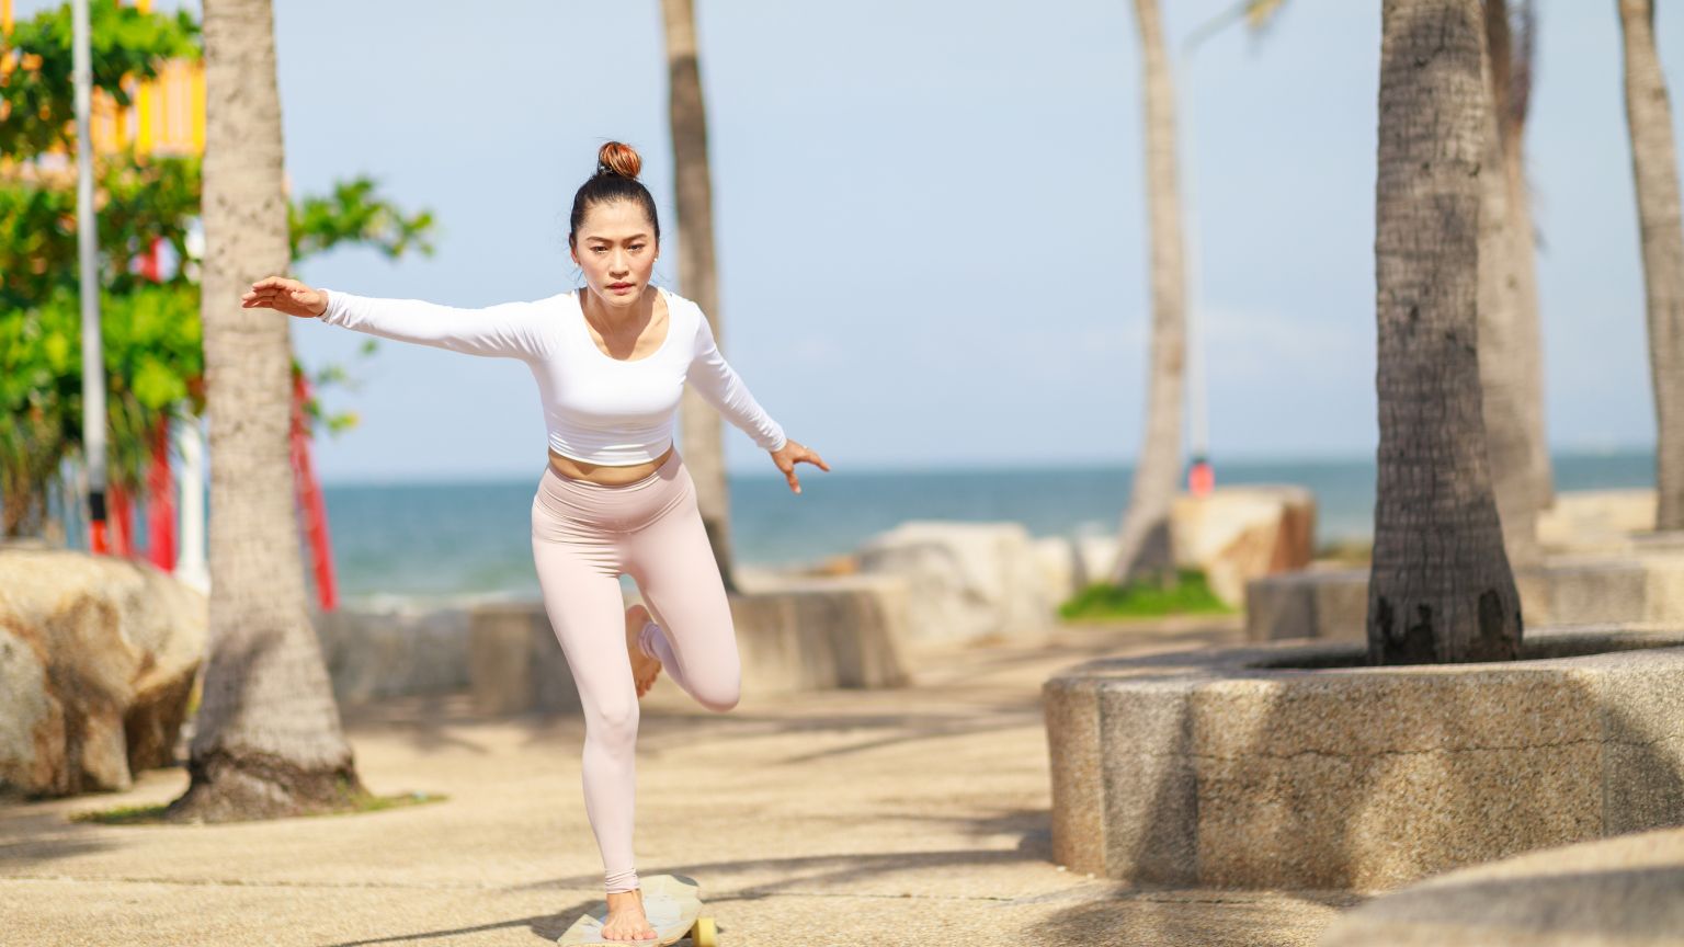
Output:
<instances>
[{"instance_id":1,"label":"thick dark palm trunk rising from the stone planter","mask_svg":"<svg viewBox=\"0 0 1684 947\"><path fill-rule=\"evenodd\" d=\"M1487 467L1479 0L1384 0L1376 182L1374 664L1511 661L1521 600Z\"/></svg>"}]
</instances>

